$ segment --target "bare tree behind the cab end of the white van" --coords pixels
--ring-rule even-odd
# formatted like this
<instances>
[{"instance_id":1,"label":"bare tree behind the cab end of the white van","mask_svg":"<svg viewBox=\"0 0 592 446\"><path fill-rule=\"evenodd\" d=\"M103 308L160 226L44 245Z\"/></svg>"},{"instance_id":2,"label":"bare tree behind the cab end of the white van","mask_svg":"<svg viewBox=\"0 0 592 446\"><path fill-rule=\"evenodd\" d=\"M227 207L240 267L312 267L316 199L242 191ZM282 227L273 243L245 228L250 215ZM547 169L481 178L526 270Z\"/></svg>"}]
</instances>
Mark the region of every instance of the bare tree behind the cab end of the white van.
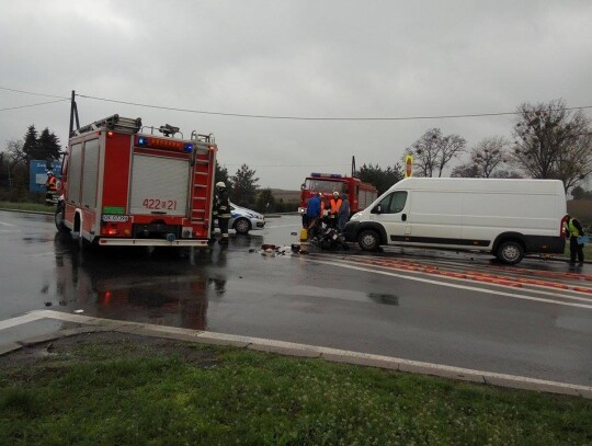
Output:
<instances>
[{"instance_id":1,"label":"bare tree behind the cab end of the white van","mask_svg":"<svg viewBox=\"0 0 592 446\"><path fill-rule=\"evenodd\" d=\"M406 152L413 156L418 176L442 176L444 168L465 151L466 144L458 135L443 136L440 128L431 128Z\"/></svg>"}]
</instances>

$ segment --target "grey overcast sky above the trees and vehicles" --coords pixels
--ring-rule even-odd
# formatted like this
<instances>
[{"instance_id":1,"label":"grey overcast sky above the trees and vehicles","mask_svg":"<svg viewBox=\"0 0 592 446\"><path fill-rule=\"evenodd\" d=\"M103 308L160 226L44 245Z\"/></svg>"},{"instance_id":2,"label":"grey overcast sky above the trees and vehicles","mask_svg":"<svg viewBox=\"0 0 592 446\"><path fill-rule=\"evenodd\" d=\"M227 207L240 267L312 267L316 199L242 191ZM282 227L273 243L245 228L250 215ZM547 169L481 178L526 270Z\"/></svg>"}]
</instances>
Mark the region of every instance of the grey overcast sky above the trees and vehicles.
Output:
<instances>
[{"instance_id":1,"label":"grey overcast sky above the trees and vehicles","mask_svg":"<svg viewBox=\"0 0 592 446\"><path fill-rule=\"evenodd\" d=\"M333 118L514 112L559 98L592 105L590 0L0 0L0 42L2 149L31 124L65 146L69 102L26 105L72 90L169 108ZM82 96L78 108L81 125L117 113L213 133L230 174L247 163L260 186L286 190L311 171L350 173L352 156L357 167L394 165L432 127L470 148L510 137L514 119L266 119Z\"/></svg>"}]
</instances>

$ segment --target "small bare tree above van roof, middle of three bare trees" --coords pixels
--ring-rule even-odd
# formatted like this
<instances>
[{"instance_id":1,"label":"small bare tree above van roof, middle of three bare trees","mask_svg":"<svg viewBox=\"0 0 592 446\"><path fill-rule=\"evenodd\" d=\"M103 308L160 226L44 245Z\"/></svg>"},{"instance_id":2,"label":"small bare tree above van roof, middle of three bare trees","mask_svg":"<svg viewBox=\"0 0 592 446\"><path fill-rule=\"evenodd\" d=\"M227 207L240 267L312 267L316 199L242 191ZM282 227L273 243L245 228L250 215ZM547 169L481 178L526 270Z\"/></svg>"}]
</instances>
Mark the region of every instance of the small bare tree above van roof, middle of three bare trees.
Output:
<instances>
[{"instance_id":1,"label":"small bare tree above van roof, middle of three bare trees","mask_svg":"<svg viewBox=\"0 0 592 446\"><path fill-rule=\"evenodd\" d=\"M454 168L451 176L493 178L508 160L508 141L494 136L478 142L470 150L470 161Z\"/></svg>"}]
</instances>

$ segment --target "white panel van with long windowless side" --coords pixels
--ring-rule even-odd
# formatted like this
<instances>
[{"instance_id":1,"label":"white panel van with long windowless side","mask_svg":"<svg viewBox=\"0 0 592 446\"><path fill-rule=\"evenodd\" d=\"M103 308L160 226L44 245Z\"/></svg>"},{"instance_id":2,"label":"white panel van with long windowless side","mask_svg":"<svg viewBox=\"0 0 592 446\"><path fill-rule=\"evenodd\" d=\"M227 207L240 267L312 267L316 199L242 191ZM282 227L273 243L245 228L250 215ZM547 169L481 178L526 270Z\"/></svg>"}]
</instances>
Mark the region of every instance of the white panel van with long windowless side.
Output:
<instances>
[{"instance_id":1,"label":"white panel van with long windowless side","mask_svg":"<svg viewBox=\"0 0 592 446\"><path fill-rule=\"evenodd\" d=\"M345 238L382 244L477 250L502 262L525 253L562 253L566 193L559 180L401 180L352 216Z\"/></svg>"}]
</instances>

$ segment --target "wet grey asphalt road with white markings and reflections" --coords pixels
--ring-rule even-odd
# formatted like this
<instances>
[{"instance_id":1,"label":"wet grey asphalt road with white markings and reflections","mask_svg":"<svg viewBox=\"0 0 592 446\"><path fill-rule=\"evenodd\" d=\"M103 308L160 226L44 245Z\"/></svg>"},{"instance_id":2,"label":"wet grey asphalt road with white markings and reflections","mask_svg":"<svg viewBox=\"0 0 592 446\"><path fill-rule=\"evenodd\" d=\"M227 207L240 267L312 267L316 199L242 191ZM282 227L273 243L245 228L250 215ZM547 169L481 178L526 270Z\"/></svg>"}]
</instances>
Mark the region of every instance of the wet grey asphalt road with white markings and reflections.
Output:
<instances>
[{"instance_id":1,"label":"wet grey asphalt road with white markings and reflections","mask_svg":"<svg viewBox=\"0 0 592 446\"><path fill-rule=\"evenodd\" d=\"M0 320L53 310L269 338L592 385L587 265L386 249L289 247L296 216L210 250L80 252L53 217L0 211ZM20 328L19 330L23 330ZM0 330L0 343L14 330Z\"/></svg>"}]
</instances>

